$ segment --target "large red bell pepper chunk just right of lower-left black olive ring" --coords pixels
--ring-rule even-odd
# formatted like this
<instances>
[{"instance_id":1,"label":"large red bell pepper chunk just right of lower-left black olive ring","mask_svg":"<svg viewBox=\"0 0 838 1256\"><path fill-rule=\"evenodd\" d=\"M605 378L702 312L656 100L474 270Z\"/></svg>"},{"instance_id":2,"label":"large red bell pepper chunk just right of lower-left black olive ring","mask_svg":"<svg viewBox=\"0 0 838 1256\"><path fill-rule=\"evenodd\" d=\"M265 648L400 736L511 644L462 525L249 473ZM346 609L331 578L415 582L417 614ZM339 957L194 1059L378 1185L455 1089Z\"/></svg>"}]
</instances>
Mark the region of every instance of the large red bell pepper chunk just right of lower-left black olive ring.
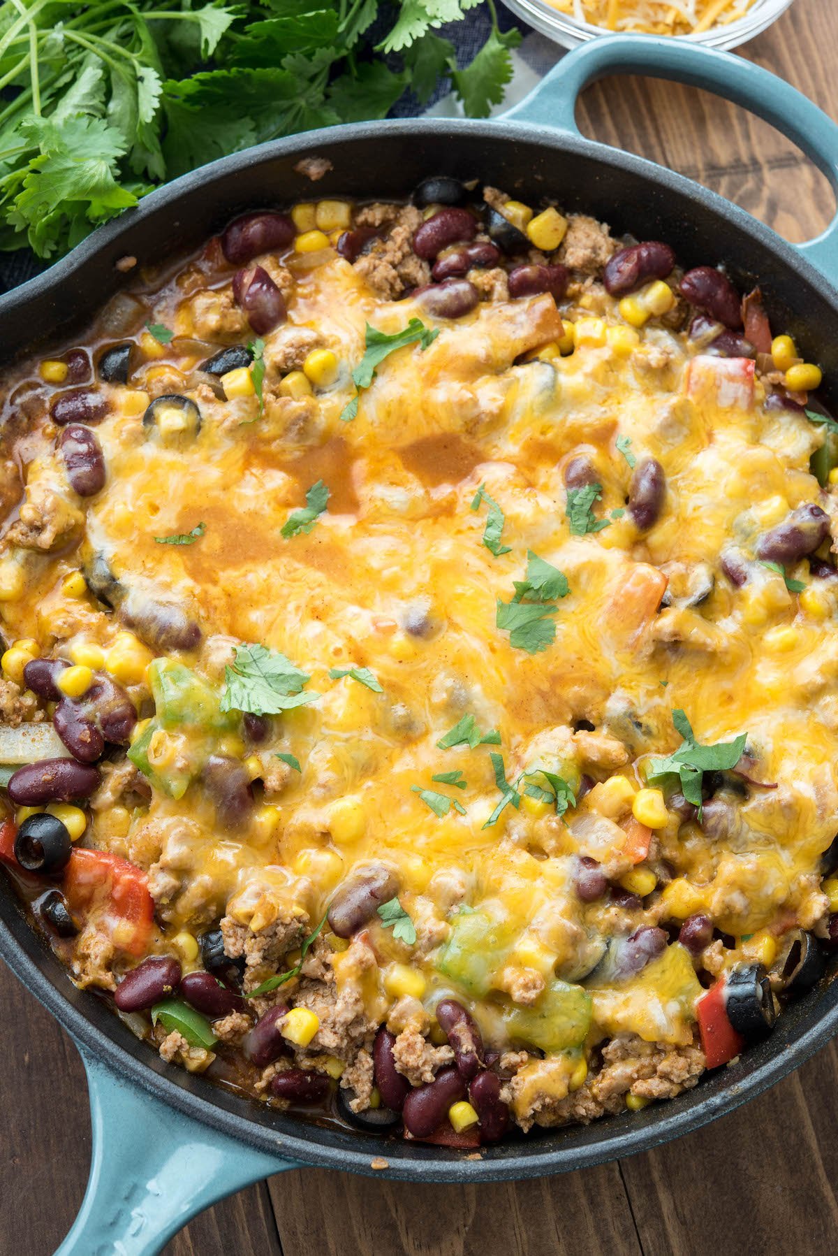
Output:
<instances>
[{"instance_id":1,"label":"large red bell pepper chunk just right of lower-left black olive ring","mask_svg":"<svg viewBox=\"0 0 838 1256\"><path fill-rule=\"evenodd\" d=\"M133 956L146 953L154 899L141 868L104 850L77 848L66 865L61 889L70 909L85 918L95 917L118 950Z\"/></svg>"}]
</instances>

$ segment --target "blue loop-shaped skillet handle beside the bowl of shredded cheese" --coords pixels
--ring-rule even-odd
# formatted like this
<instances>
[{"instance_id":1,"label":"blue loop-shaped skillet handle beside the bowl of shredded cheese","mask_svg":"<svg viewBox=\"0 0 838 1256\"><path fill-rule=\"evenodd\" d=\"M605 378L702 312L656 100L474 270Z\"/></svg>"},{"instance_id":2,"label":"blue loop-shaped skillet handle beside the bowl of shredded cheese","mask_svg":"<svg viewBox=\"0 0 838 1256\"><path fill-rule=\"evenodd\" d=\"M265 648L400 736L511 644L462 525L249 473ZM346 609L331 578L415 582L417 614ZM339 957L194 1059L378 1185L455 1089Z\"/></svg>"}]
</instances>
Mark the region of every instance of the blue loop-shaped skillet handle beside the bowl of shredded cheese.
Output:
<instances>
[{"instance_id":1,"label":"blue loop-shaped skillet handle beside the bowl of shredded cheese","mask_svg":"<svg viewBox=\"0 0 838 1256\"><path fill-rule=\"evenodd\" d=\"M679 39L652 35L592 39L563 57L504 118L578 136L577 98L590 83L608 74L649 74L689 83L744 106L802 148L838 195L838 126L823 109L760 65ZM823 235L795 247L838 286L838 215Z\"/></svg>"}]
</instances>

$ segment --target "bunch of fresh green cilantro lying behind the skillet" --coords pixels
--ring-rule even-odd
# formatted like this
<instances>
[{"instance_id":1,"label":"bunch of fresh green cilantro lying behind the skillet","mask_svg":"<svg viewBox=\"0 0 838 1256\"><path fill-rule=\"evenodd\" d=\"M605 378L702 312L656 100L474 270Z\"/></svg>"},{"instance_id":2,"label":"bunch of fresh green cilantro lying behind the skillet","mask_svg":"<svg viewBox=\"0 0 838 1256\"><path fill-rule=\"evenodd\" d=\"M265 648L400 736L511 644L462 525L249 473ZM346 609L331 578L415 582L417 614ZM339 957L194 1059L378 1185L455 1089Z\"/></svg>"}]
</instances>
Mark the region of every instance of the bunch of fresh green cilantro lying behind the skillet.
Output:
<instances>
[{"instance_id":1,"label":"bunch of fresh green cilantro lying behind the skillet","mask_svg":"<svg viewBox=\"0 0 838 1256\"><path fill-rule=\"evenodd\" d=\"M184 171L277 136L383 118L448 75L503 98L517 31L469 65L437 34L480 0L0 3L0 249L49 257Z\"/></svg>"}]
</instances>

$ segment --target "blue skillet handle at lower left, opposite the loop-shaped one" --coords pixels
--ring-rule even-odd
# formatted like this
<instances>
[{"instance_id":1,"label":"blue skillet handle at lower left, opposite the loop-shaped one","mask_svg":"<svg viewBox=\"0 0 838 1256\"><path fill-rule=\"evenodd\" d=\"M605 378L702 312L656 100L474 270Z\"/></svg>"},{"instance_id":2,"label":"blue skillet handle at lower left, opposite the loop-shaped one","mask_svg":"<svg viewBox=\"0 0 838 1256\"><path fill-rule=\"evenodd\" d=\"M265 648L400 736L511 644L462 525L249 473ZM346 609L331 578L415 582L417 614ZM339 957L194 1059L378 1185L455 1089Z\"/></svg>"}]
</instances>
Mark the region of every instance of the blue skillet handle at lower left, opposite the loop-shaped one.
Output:
<instances>
[{"instance_id":1,"label":"blue skillet handle at lower left, opposite the loop-shaped one","mask_svg":"<svg viewBox=\"0 0 838 1256\"><path fill-rule=\"evenodd\" d=\"M55 1256L157 1256L211 1203L297 1168L184 1117L80 1054L90 1090L90 1178Z\"/></svg>"}]
</instances>

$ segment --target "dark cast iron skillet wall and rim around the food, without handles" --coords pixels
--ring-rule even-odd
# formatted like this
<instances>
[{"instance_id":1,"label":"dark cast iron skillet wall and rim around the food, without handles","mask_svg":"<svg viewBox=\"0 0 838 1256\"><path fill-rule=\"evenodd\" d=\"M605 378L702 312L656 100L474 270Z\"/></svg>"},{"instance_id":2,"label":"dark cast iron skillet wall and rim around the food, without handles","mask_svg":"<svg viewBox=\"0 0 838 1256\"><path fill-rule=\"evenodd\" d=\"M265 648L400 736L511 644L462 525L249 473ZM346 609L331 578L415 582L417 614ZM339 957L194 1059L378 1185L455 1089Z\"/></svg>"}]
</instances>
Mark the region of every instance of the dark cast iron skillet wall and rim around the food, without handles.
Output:
<instances>
[{"instance_id":1,"label":"dark cast iron skillet wall and rim around the food, without handles","mask_svg":"<svg viewBox=\"0 0 838 1256\"><path fill-rule=\"evenodd\" d=\"M332 163L316 183L294 168L306 154ZM1 296L3 355L8 360L41 340L82 330L125 283L114 269L125 254L153 265L197 247L243 210L341 193L403 198L434 173L479 178L528 202L549 195L565 208L605 220L615 234L666 240L685 266L725 263L741 289L759 281L773 322L794 335L808 360L820 363L824 398L838 408L838 294L790 245L735 206L650 162L586 139L502 122L411 119L339 127L263 144L187 175L100 229L44 275ZM167 1068L102 1000L75 990L28 924L5 878L0 953L94 1055L174 1108L278 1157L359 1173L374 1172L370 1161L384 1157L389 1168L378 1171L381 1176L428 1182L538 1177L645 1150L754 1098L838 1031L838 985L825 981L787 1007L765 1042L669 1103L587 1128L533 1130L526 1139L485 1148L480 1159L465 1159L444 1148L275 1113Z\"/></svg>"}]
</instances>

